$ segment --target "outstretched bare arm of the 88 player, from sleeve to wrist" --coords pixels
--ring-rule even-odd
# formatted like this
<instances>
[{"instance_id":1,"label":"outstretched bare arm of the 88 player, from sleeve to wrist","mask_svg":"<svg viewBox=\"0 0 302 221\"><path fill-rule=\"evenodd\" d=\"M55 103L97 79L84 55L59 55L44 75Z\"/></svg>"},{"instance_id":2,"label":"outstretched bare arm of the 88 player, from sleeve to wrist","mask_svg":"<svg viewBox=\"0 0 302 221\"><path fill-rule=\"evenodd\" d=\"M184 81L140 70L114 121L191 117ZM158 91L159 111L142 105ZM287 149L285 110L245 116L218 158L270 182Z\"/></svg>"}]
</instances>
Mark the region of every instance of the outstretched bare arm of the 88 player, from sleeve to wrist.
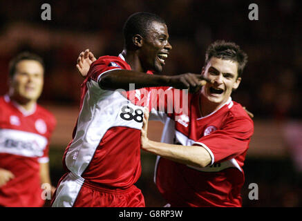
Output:
<instances>
[{"instance_id":1,"label":"outstretched bare arm of the 88 player, from sleeve to wrist","mask_svg":"<svg viewBox=\"0 0 302 221\"><path fill-rule=\"evenodd\" d=\"M129 90L129 84L135 84L135 89L170 86L170 77L167 75L148 75L133 70L112 70L100 77L99 85L105 90Z\"/></svg>"}]
</instances>

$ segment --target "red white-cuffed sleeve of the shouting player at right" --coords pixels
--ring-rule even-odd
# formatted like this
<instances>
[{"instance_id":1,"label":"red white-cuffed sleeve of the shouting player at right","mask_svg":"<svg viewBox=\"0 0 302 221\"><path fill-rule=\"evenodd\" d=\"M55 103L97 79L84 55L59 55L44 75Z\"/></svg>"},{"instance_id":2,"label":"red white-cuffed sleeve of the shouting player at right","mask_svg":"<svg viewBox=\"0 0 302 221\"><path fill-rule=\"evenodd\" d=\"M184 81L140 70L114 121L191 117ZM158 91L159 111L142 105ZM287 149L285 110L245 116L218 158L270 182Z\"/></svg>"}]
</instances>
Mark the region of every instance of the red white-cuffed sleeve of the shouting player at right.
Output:
<instances>
[{"instance_id":1,"label":"red white-cuffed sleeve of the shouting player at right","mask_svg":"<svg viewBox=\"0 0 302 221\"><path fill-rule=\"evenodd\" d=\"M207 149L211 164L224 162L247 151L253 133L251 120L245 117L232 119L223 128L201 137L194 145Z\"/></svg>"}]
</instances>

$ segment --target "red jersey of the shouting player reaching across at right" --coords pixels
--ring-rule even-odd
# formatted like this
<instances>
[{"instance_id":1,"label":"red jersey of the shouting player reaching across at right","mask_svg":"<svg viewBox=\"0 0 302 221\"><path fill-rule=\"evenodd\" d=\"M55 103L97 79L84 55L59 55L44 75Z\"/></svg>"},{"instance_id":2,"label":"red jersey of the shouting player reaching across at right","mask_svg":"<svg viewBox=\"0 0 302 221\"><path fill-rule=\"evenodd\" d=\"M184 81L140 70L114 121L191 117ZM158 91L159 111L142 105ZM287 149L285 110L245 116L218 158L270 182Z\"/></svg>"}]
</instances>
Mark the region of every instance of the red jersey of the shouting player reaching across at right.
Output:
<instances>
[{"instance_id":1,"label":"red jersey of the shouting player reaching across at right","mask_svg":"<svg viewBox=\"0 0 302 221\"><path fill-rule=\"evenodd\" d=\"M217 111L201 117L199 96L188 95L185 114L160 115L166 122L162 142L203 146L211 164L197 168L158 157L155 183L171 206L241 206L242 166L254 124L231 97Z\"/></svg>"}]
</instances>

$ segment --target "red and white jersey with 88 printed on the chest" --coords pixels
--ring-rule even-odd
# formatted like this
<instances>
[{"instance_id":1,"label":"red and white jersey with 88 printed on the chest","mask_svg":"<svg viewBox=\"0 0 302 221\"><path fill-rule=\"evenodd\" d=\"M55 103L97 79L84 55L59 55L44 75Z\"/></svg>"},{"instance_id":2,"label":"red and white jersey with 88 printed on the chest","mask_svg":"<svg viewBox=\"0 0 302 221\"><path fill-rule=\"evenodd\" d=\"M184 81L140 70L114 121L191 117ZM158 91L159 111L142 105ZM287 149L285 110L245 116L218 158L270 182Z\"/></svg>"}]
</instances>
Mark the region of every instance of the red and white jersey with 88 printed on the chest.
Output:
<instances>
[{"instance_id":1,"label":"red and white jersey with 88 printed on the chest","mask_svg":"<svg viewBox=\"0 0 302 221\"><path fill-rule=\"evenodd\" d=\"M64 153L68 175L59 183L53 206L73 206L83 185L128 189L140 177L140 131L149 90L100 88L101 75L116 69L131 70L122 55L91 64L73 140Z\"/></svg>"}]
</instances>

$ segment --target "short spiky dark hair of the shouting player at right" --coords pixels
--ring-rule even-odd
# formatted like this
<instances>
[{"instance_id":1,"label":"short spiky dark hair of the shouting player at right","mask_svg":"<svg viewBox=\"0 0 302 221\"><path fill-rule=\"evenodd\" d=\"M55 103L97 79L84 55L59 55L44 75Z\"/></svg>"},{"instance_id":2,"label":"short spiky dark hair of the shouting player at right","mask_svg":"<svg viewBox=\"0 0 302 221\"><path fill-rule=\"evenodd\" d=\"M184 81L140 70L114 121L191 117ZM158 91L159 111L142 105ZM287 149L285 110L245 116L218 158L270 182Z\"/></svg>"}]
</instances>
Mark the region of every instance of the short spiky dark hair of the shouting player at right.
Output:
<instances>
[{"instance_id":1,"label":"short spiky dark hair of the shouting player at right","mask_svg":"<svg viewBox=\"0 0 302 221\"><path fill-rule=\"evenodd\" d=\"M241 77L247 64L247 54L237 44L230 41L218 40L211 44L205 53L205 66L211 57L238 62L238 77Z\"/></svg>"}]
</instances>

